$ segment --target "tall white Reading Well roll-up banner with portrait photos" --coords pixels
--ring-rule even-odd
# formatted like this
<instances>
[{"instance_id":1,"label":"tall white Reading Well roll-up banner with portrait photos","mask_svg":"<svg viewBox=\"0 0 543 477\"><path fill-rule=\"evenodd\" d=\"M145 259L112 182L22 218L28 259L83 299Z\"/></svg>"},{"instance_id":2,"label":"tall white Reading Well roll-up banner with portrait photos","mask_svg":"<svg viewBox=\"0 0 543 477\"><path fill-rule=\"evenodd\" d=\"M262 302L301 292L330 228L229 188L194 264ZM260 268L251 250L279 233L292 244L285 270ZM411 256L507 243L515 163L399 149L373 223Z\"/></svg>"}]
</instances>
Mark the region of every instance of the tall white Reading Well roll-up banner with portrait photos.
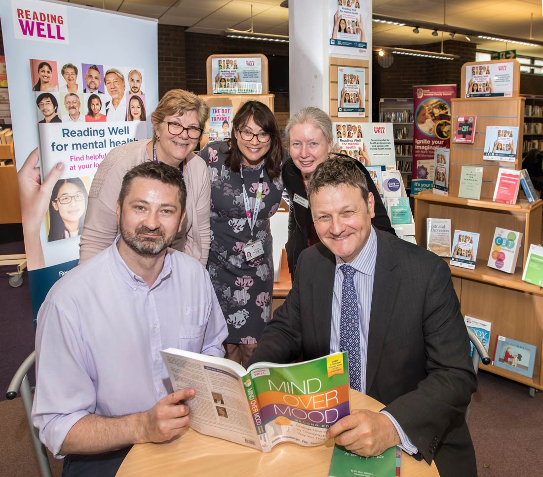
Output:
<instances>
[{"instance_id":1,"label":"tall white Reading Well roll-up banner with portrait photos","mask_svg":"<svg viewBox=\"0 0 543 477\"><path fill-rule=\"evenodd\" d=\"M77 265L98 165L113 147L150 137L157 21L40 0L0 2L0 18L36 319L49 288ZM42 186L47 200L33 187L36 147L42 181L64 164L60 180Z\"/></svg>"}]
</instances>

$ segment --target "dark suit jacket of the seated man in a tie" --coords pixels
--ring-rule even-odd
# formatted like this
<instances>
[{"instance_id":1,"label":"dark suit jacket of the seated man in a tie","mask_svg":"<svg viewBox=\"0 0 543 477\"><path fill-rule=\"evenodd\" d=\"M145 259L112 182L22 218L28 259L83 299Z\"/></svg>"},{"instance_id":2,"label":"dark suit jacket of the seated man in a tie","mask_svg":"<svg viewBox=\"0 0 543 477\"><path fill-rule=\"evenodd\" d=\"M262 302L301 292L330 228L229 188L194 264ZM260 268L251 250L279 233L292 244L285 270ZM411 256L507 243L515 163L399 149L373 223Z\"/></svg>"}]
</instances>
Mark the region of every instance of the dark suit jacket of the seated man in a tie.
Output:
<instances>
[{"instance_id":1,"label":"dark suit jacket of the seated man in a tie","mask_svg":"<svg viewBox=\"0 0 543 477\"><path fill-rule=\"evenodd\" d=\"M477 475L464 420L477 378L445 261L376 230L366 393L381 401L441 477ZM330 353L334 255L323 244L300 254L291 292L248 366ZM419 455L420 457L420 455Z\"/></svg>"}]
</instances>

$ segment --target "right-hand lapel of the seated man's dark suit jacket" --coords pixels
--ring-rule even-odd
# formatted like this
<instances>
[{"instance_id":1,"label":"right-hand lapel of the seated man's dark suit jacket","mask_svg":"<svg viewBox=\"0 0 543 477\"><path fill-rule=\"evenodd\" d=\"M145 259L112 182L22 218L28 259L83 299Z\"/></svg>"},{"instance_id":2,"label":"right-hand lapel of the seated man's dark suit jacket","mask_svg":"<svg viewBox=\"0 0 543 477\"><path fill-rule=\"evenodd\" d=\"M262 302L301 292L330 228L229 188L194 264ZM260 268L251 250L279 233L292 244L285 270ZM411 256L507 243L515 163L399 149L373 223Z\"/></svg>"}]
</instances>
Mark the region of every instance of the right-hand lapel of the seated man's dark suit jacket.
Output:
<instances>
[{"instance_id":1,"label":"right-hand lapel of the seated man's dark suit jacket","mask_svg":"<svg viewBox=\"0 0 543 477\"><path fill-rule=\"evenodd\" d=\"M376 230L377 259L371 298L368 354L366 362L366 392L371 389L381 359L384 337L392 318L400 277L395 270L396 260L387 233ZM333 285L332 285L333 286Z\"/></svg>"}]
</instances>

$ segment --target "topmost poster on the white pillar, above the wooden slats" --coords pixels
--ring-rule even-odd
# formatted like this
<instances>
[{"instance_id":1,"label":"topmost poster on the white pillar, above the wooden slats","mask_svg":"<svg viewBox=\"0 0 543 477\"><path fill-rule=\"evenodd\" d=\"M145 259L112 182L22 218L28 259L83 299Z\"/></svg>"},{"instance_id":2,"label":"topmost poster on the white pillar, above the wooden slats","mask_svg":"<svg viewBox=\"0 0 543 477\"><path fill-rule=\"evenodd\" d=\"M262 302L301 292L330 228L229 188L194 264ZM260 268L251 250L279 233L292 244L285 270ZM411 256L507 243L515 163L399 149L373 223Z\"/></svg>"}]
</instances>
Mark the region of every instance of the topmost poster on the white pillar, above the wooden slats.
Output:
<instances>
[{"instance_id":1,"label":"topmost poster on the white pillar, above the wooden slats","mask_svg":"<svg viewBox=\"0 0 543 477\"><path fill-rule=\"evenodd\" d=\"M330 52L367 56L370 20L369 0L329 0Z\"/></svg>"}]
</instances>

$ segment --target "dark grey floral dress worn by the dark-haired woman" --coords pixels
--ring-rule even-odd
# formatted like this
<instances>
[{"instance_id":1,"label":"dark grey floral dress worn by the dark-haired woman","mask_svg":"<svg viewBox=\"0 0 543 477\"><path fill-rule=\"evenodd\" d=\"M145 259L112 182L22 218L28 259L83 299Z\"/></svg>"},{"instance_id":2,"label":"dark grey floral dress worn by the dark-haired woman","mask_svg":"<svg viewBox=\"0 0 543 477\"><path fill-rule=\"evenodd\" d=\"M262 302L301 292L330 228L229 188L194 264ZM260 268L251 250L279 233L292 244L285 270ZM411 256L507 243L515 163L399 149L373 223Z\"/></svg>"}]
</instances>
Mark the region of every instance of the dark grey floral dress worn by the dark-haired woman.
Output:
<instances>
[{"instance_id":1,"label":"dark grey floral dress worn by the dark-haired woman","mask_svg":"<svg viewBox=\"0 0 543 477\"><path fill-rule=\"evenodd\" d=\"M261 240L264 254L247 262L243 247L251 239L247 223L241 175L225 167L226 141L212 142L200 152L208 161L211 180L211 250L207 271L224 318L227 343L256 343L270 319L274 267L269 218L279 209L283 182L270 180L264 170L262 201L253 229L253 240ZM251 215L263 164L242 166Z\"/></svg>"}]
</instances>

